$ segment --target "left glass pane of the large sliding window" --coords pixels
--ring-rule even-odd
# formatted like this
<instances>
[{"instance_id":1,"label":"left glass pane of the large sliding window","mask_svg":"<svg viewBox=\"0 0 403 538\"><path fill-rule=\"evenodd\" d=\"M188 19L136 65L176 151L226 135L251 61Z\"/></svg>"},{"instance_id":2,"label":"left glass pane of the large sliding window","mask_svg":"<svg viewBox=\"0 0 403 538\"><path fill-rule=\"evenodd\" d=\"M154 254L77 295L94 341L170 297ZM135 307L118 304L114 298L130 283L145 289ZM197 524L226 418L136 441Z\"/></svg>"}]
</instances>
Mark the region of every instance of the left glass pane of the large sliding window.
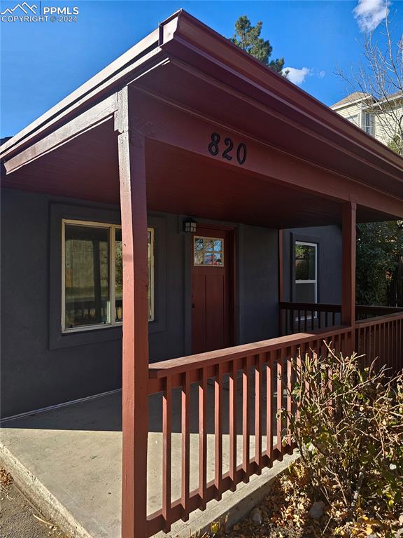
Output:
<instances>
[{"instance_id":1,"label":"left glass pane of the large sliding window","mask_svg":"<svg viewBox=\"0 0 403 538\"><path fill-rule=\"evenodd\" d=\"M108 228L66 224L66 329L109 322Z\"/></svg>"}]
</instances>

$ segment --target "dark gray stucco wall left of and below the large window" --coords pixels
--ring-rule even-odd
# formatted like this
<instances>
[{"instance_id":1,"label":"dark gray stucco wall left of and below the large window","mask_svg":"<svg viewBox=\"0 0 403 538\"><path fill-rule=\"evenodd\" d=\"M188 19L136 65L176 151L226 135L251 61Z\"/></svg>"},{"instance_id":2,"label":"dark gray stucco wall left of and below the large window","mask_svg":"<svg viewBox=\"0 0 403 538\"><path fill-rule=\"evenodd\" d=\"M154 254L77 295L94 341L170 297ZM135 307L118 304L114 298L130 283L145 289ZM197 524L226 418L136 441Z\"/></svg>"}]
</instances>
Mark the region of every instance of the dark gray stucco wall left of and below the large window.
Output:
<instances>
[{"instance_id":1,"label":"dark gray stucco wall left of and below the large window","mask_svg":"<svg viewBox=\"0 0 403 538\"><path fill-rule=\"evenodd\" d=\"M2 416L120 387L119 339L50 350L50 199L1 194Z\"/></svg>"}]
</instances>

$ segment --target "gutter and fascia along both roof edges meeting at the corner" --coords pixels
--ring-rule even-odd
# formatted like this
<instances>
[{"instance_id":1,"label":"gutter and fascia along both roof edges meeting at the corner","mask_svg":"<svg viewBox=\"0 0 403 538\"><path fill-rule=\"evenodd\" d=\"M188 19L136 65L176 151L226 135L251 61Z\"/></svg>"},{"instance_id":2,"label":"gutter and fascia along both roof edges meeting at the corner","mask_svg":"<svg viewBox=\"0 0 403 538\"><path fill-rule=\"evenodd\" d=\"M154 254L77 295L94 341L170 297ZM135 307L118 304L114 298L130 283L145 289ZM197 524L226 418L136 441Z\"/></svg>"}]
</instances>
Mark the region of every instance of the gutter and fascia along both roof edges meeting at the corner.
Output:
<instances>
[{"instance_id":1,"label":"gutter and fascia along both roof edges meeting at the corner","mask_svg":"<svg viewBox=\"0 0 403 538\"><path fill-rule=\"evenodd\" d=\"M150 68L155 67L160 53L185 62L191 60L196 69L211 76L231 74L232 79L242 82L245 88L250 86L250 91L257 88L262 95L269 95L271 102L297 113L302 120L306 118L316 123L318 129L325 127L329 136L339 137L350 151L367 151L403 172L403 160L386 146L183 10L171 15L127 53L3 144L1 156L17 153L43 132L76 116L91 102L111 95L132 81L136 71L143 69L144 62L149 62Z\"/></svg>"}]
</instances>

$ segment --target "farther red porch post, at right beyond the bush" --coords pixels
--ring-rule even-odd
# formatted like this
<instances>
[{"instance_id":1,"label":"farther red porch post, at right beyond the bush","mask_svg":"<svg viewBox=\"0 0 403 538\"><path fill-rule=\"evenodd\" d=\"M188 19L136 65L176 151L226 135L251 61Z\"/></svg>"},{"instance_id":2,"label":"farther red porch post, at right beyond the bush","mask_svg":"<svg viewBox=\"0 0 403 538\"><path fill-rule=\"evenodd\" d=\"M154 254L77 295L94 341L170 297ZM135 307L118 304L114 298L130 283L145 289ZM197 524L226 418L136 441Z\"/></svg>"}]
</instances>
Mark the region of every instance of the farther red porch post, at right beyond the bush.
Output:
<instances>
[{"instance_id":1,"label":"farther red porch post, at right beyond the bush","mask_svg":"<svg viewBox=\"0 0 403 538\"><path fill-rule=\"evenodd\" d=\"M351 345L347 352L355 347L355 241L356 241L355 202L343 206L343 258L342 258L342 291L341 291L341 324L352 327Z\"/></svg>"}]
</instances>

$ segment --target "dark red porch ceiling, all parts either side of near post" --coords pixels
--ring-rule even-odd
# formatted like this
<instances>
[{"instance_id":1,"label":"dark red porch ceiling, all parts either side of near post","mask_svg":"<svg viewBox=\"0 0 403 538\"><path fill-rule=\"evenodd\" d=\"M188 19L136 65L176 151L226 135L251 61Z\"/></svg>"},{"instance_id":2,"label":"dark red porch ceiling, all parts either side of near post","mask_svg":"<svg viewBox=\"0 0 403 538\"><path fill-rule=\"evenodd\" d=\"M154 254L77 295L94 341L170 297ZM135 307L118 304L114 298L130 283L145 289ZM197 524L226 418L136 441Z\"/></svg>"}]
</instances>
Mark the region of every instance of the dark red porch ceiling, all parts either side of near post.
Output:
<instances>
[{"instance_id":1,"label":"dark red porch ceiling, all parts either side of near post","mask_svg":"<svg viewBox=\"0 0 403 538\"><path fill-rule=\"evenodd\" d=\"M162 142L146 146L148 209L272 228L341 222L341 200L285 186ZM118 144L107 120L13 174L3 186L119 205ZM358 206L360 221L388 215Z\"/></svg>"}]
</instances>

